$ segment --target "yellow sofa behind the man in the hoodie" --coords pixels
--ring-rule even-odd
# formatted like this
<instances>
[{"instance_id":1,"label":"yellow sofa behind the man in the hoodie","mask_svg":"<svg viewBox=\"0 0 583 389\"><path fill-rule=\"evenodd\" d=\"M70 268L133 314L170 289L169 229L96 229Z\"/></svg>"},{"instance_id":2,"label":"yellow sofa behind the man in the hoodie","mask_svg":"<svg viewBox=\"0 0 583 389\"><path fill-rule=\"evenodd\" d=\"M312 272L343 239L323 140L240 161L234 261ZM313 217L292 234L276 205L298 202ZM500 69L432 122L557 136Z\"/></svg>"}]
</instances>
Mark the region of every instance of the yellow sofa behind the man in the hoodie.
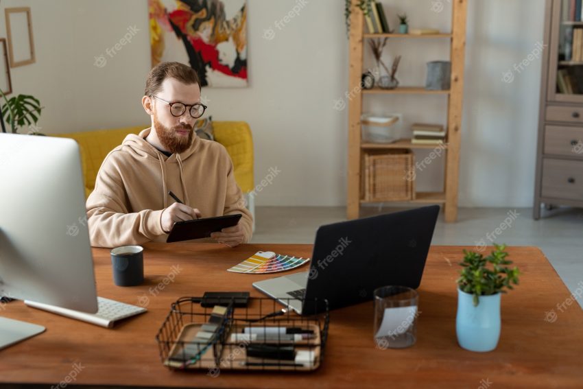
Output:
<instances>
[{"instance_id":1,"label":"yellow sofa behind the man in the hoodie","mask_svg":"<svg viewBox=\"0 0 583 389\"><path fill-rule=\"evenodd\" d=\"M104 158L128 134L138 134L148 126L112 128L86 132L71 132L69 134L52 134L54 137L75 139L81 151L81 163L85 181L85 196L95 188L97 172ZM245 121L213 121L215 141L227 149L235 167L235 180L241 191L248 196L251 213L254 210L253 181L253 139L251 129Z\"/></svg>"}]
</instances>

